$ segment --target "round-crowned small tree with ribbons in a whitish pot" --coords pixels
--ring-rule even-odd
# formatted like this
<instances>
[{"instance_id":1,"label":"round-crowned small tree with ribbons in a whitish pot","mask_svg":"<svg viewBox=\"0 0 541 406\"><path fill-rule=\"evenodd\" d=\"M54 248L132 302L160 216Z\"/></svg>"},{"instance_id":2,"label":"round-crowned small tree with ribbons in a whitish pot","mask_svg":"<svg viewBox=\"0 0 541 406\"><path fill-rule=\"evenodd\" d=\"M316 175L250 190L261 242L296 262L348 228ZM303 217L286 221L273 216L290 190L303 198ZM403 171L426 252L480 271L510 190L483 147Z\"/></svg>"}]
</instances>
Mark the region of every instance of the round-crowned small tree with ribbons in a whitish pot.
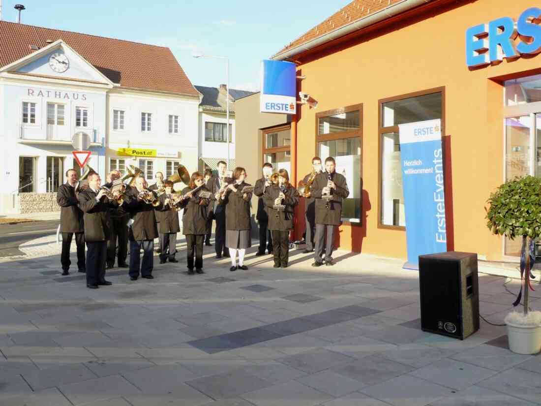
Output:
<instances>
[{"instance_id":1,"label":"round-crowned small tree with ribbons in a whitish pot","mask_svg":"<svg viewBox=\"0 0 541 406\"><path fill-rule=\"evenodd\" d=\"M541 312L530 311L529 290L532 289L531 268L535 260L533 243L541 235L541 179L524 176L509 180L490 195L487 203L490 205L485 207L487 227L493 234L510 239L522 237L522 285L513 306L520 303L524 291L524 310L510 312L504 319L509 348L521 354L537 353L541 350Z\"/></svg>"}]
</instances>

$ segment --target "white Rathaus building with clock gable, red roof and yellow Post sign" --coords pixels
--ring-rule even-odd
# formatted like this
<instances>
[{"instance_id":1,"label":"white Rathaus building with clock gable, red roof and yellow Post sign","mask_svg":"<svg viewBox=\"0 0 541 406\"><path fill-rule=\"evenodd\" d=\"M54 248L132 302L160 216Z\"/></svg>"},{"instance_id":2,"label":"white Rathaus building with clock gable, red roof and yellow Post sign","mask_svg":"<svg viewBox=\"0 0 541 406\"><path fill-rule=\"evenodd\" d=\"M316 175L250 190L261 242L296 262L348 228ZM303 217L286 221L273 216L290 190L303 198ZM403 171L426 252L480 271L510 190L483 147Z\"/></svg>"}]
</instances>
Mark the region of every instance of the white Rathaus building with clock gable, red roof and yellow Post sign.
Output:
<instances>
[{"instance_id":1,"label":"white Rathaus building with clock gable, red roof and yellow Post sign","mask_svg":"<svg viewBox=\"0 0 541 406\"><path fill-rule=\"evenodd\" d=\"M196 171L201 95L168 48L0 21L0 49L0 213L58 209L78 131L102 179Z\"/></svg>"}]
</instances>

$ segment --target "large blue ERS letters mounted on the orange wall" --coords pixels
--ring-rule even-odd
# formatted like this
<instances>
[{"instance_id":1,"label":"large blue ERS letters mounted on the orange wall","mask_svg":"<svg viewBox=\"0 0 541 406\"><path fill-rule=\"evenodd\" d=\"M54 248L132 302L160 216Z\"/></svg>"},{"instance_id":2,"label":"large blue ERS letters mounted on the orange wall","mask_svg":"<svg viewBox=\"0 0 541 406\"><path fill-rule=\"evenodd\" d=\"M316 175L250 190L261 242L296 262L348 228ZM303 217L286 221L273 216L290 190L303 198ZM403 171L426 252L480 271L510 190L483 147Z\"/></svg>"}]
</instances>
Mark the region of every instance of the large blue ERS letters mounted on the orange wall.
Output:
<instances>
[{"instance_id":1,"label":"large blue ERS letters mounted on the orange wall","mask_svg":"<svg viewBox=\"0 0 541 406\"><path fill-rule=\"evenodd\" d=\"M474 68L522 55L541 52L541 9L530 7L515 22L511 17L501 17L489 23L474 25L466 30L466 64ZM527 37L530 41L516 38Z\"/></svg>"}]
</instances>

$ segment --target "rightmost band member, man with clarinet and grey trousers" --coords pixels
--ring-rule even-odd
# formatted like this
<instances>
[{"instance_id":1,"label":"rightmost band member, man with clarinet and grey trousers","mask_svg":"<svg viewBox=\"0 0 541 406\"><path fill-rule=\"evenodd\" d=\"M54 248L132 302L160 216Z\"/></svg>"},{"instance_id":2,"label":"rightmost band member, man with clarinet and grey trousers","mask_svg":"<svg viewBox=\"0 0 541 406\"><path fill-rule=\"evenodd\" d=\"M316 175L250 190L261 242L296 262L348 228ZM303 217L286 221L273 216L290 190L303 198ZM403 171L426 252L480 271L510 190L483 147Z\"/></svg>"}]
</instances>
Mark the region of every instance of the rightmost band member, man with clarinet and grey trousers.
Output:
<instances>
[{"instance_id":1,"label":"rightmost band member, man with clarinet and grey trousers","mask_svg":"<svg viewBox=\"0 0 541 406\"><path fill-rule=\"evenodd\" d=\"M315 253L312 266L323 265L324 239L325 264L333 265L334 232L342 218L342 199L349 195L346 178L335 172L336 163L329 156L325 160L326 172L320 173L312 184L312 196L315 198Z\"/></svg>"}]
</instances>

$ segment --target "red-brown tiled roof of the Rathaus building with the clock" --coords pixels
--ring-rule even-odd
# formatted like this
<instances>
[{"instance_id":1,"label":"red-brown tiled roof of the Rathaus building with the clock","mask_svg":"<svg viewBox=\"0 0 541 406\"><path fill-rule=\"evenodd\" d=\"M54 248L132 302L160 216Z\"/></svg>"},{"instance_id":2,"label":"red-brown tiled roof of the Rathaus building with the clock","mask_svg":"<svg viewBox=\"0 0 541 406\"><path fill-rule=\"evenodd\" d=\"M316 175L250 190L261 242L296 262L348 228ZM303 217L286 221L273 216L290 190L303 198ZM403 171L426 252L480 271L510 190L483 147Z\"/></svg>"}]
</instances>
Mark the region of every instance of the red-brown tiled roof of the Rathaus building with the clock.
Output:
<instances>
[{"instance_id":1,"label":"red-brown tiled roof of the Rathaus building with the clock","mask_svg":"<svg viewBox=\"0 0 541 406\"><path fill-rule=\"evenodd\" d=\"M63 40L121 87L168 91L199 97L169 48L0 21L0 66Z\"/></svg>"}]
</instances>

